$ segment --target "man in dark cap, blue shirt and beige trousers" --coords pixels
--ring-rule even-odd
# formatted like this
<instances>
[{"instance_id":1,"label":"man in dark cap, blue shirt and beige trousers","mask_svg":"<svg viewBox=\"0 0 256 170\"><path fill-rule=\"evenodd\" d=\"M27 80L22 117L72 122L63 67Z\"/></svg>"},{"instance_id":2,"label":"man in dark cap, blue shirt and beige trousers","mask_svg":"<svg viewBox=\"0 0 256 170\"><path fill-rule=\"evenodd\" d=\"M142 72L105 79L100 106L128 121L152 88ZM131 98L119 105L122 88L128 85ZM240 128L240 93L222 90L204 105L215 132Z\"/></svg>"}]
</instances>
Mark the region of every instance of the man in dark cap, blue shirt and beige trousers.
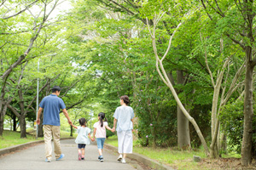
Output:
<instances>
[{"instance_id":1,"label":"man in dark cap, blue shirt and beige trousers","mask_svg":"<svg viewBox=\"0 0 256 170\"><path fill-rule=\"evenodd\" d=\"M68 116L66 105L63 100L58 96L61 94L61 88L55 86L51 88L52 94L44 97L42 99L39 109L38 109L38 120L37 123L40 124L40 116L42 111L44 110L44 146L45 146L45 161L51 161L51 139L52 135L54 137L55 144L55 158L56 161L61 160L64 157L64 154L61 153L61 144L60 144L60 130L61 130L61 122L60 122L60 111L62 110L64 115L67 117L68 123L71 125L72 122Z\"/></svg>"}]
</instances>

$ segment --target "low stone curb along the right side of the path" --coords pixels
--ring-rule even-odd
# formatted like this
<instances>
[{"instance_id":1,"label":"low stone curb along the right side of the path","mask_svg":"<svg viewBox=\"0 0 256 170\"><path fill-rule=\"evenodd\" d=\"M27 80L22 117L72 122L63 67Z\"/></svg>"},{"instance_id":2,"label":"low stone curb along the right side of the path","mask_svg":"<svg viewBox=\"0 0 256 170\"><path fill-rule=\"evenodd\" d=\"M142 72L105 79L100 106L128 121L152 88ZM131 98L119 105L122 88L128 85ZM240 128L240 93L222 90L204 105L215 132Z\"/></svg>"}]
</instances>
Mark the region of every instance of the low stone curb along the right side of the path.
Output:
<instances>
[{"instance_id":1,"label":"low stone curb along the right side of the path","mask_svg":"<svg viewBox=\"0 0 256 170\"><path fill-rule=\"evenodd\" d=\"M118 152L118 148L114 147L113 145L110 144L104 144L104 147L106 147L108 150L113 150L115 152ZM147 156L142 156L137 153L132 153L132 154L127 154L127 158L131 160L135 160L138 162L142 162L144 165L148 167L152 167L153 169L157 170L175 170L172 167L168 167L158 161L155 161L153 159L148 158Z\"/></svg>"}]
</instances>

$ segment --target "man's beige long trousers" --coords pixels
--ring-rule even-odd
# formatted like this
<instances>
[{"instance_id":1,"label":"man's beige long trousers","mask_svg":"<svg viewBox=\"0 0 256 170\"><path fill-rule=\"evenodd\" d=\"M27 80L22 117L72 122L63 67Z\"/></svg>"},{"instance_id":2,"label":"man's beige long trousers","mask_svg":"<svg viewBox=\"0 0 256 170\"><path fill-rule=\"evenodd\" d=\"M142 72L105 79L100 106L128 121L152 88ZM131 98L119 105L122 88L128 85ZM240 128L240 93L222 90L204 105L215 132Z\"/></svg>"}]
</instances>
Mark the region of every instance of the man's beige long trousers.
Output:
<instances>
[{"instance_id":1,"label":"man's beige long trousers","mask_svg":"<svg viewBox=\"0 0 256 170\"><path fill-rule=\"evenodd\" d=\"M60 144L60 126L44 125L44 147L45 147L45 157L51 160L51 139L54 137L53 141L55 144L55 158L61 156L61 144Z\"/></svg>"}]
</instances>

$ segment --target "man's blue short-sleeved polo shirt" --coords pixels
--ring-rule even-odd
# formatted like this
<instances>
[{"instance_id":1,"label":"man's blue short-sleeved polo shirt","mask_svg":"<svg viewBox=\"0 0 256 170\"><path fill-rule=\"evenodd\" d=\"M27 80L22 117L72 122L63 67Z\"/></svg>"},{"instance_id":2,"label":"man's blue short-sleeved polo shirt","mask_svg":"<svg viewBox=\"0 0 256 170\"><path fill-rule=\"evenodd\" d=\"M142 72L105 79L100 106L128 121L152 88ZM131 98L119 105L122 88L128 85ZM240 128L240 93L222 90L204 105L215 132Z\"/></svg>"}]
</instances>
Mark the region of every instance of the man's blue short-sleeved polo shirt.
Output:
<instances>
[{"instance_id":1,"label":"man's blue short-sleeved polo shirt","mask_svg":"<svg viewBox=\"0 0 256 170\"><path fill-rule=\"evenodd\" d=\"M44 109L43 125L61 126L60 110L66 108L61 98L55 94L49 94L42 99L39 106Z\"/></svg>"}]
</instances>

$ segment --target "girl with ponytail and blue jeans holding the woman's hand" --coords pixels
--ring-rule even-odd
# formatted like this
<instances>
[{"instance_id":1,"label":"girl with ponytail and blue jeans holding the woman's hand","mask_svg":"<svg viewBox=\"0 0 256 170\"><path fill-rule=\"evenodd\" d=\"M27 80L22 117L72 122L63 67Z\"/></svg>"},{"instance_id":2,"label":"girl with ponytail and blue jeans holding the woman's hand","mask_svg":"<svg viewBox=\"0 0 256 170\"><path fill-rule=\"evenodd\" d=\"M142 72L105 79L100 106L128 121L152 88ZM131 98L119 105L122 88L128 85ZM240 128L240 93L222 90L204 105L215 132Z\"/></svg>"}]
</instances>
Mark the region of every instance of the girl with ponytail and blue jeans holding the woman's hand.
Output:
<instances>
[{"instance_id":1,"label":"girl with ponytail and blue jeans holding the woman's hand","mask_svg":"<svg viewBox=\"0 0 256 170\"><path fill-rule=\"evenodd\" d=\"M104 122L103 122L103 119ZM113 131L112 128L108 127L108 122L107 122L107 118L105 117L105 113L100 112L98 114L98 122L94 123L93 127L94 127L94 131L93 131L93 139L95 139L96 137L96 141L97 141L97 146L98 146L98 150L99 150L99 157L98 159L100 161L103 161L103 156L102 156L102 152L103 152L103 145L106 139L106 128L108 128L108 130Z\"/></svg>"}]
</instances>

